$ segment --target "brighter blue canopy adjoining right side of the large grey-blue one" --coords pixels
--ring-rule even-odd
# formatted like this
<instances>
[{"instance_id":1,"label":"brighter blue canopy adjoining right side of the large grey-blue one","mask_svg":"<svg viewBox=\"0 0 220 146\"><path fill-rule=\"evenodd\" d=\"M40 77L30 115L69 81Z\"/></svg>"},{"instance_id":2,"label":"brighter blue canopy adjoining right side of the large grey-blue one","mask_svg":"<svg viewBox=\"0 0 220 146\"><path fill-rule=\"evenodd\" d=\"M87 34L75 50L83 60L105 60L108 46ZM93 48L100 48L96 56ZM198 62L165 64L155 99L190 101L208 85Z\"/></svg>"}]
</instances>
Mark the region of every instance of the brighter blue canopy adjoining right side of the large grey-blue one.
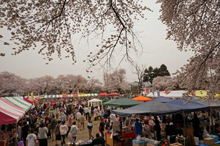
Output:
<instances>
[{"instance_id":1,"label":"brighter blue canopy adjoining right side of the large grey-blue one","mask_svg":"<svg viewBox=\"0 0 220 146\"><path fill-rule=\"evenodd\" d=\"M196 103L194 101L190 101L189 103L187 103L187 100L185 100L185 105L184 105L183 99L173 100L173 101L167 102L166 104L181 108L182 110L184 110L184 112L194 112L194 111L210 109L209 106Z\"/></svg>"}]
</instances>

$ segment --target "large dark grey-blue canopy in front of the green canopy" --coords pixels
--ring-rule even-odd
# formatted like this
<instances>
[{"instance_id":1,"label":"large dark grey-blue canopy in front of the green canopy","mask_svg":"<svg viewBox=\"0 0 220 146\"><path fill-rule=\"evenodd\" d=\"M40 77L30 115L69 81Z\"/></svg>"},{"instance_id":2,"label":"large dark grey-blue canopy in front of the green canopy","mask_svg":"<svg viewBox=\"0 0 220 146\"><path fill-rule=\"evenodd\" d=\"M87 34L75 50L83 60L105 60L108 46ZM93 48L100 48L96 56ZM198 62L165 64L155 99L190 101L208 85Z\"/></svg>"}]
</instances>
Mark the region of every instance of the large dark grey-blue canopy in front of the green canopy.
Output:
<instances>
[{"instance_id":1,"label":"large dark grey-blue canopy in front of the green canopy","mask_svg":"<svg viewBox=\"0 0 220 146\"><path fill-rule=\"evenodd\" d=\"M146 115L165 115L179 113L183 110L165 103L158 101L148 101L141 103L139 105L133 106L131 108L123 110L113 110L112 113L119 116L130 116L131 114L146 114Z\"/></svg>"}]
</instances>

